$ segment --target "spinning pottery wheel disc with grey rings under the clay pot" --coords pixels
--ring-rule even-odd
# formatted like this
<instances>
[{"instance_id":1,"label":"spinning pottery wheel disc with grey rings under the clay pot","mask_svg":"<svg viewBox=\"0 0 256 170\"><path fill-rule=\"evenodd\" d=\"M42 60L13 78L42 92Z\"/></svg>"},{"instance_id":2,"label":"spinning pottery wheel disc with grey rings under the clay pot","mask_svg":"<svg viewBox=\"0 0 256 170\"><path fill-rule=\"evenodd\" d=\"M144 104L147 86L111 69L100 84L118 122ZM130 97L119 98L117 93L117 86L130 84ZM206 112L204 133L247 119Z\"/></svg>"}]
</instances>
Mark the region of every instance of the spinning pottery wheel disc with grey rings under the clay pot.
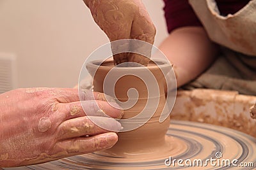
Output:
<instances>
[{"instance_id":1,"label":"spinning pottery wheel disc with grey rings under the clay pot","mask_svg":"<svg viewBox=\"0 0 256 170\"><path fill-rule=\"evenodd\" d=\"M252 162L256 167L256 139L232 129L225 127L200 124L195 122L173 120L166 134L171 142L172 148L169 156L173 159L191 161L195 159L216 159L223 160L237 159L237 165L241 162ZM147 141L145 141L147 142ZM216 157L216 153L221 153ZM170 159L166 157L166 159ZM120 157L106 157L100 153L89 153L77 155L45 164L19 169L253 169L253 167L228 167L208 166L204 167L180 167L166 166L165 159L150 160L150 157L143 161L129 161ZM209 163L209 162L208 162ZM183 164L185 164L183 162ZM15 169L15 168L14 168Z\"/></svg>"}]
</instances>

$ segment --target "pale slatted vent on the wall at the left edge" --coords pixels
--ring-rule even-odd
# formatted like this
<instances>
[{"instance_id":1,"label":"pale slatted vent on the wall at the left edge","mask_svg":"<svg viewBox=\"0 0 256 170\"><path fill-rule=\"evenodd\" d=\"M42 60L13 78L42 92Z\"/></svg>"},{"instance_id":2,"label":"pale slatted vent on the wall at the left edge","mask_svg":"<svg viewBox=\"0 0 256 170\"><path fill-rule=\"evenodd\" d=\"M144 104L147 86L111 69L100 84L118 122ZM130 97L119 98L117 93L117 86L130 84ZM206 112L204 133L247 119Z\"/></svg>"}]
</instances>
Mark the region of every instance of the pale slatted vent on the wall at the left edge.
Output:
<instances>
[{"instance_id":1,"label":"pale slatted vent on the wall at the left edge","mask_svg":"<svg viewBox=\"0 0 256 170\"><path fill-rule=\"evenodd\" d=\"M0 94L15 89L15 64L15 55L0 53Z\"/></svg>"}]
</instances>

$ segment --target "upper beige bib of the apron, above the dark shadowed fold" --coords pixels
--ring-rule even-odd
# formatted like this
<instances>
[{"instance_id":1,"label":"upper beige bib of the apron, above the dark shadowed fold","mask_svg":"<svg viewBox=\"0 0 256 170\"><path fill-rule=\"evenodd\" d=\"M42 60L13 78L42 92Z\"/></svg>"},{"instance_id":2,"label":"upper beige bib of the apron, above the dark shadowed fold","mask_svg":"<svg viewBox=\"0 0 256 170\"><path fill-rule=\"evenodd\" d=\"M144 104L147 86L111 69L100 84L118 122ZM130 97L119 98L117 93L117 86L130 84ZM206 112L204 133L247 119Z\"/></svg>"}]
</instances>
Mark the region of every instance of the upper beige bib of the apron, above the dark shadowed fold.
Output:
<instances>
[{"instance_id":1,"label":"upper beige bib of the apron, above the dark shadowed fold","mask_svg":"<svg viewBox=\"0 0 256 170\"><path fill-rule=\"evenodd\" d=\"M212 41L247 55L256 55L256 0L234 15L220 15L214 0L189 0Z\"/></svg>"}]
</instances>

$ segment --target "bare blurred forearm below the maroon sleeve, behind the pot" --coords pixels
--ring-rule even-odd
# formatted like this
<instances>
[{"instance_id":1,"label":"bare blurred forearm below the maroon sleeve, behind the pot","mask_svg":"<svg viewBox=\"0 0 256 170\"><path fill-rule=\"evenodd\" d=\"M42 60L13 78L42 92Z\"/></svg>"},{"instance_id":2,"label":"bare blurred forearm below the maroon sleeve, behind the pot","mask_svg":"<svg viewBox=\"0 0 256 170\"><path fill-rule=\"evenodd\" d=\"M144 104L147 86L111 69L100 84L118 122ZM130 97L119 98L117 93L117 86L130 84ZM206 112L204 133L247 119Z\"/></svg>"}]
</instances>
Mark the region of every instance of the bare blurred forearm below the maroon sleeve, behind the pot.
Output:
<instances>
[{"instance_id":1,"label":"bare blurred forearm below the maroon sleeve, behind the pot","mask_svg":"<svg viewBox=\"0 0 256 170\"><path fill-rule=\"evenodd\" d=\"M218 52L202 27L175 29L159 48L174 65L178 87L203 73Z\"/></svg>"}]
</instances>

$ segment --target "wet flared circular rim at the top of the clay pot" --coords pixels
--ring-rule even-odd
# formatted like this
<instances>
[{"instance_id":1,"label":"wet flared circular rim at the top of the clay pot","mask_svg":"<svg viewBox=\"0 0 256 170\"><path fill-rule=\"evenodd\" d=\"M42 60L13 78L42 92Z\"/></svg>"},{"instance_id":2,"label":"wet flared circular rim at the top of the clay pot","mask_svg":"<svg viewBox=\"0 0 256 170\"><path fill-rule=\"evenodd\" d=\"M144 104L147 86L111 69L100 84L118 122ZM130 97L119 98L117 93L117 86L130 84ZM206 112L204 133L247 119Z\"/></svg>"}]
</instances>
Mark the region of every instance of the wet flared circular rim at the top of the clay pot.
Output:
<instances>
[{"instance_id":1,"label":"wet flared circular rim at the top of the clay pot","mask_svg":"<svg viewBox=\"0 0 256 170\"><path fill-rule=\"evenodd\" d=\"M101 66L101 64L106 64L106 66ZM160 60L160 59L154 59L150 61L151 64L156 63L156 65L154 66L128 66L128 67L120 67L118 64L117 66L115 66L114 64L114 60L92 60L90 62L88 62L86 64L86 67L98 67L98 69L106 69L109 70L111 68L115 69L115 70L131 70L136 68L136 70L138 69L145 69L145 67L147 67L147 69L158 69L161 68L163 69L164 67L170 67L172 66L172 64L170 64L170 62L168 62L167 60ZM119 67L118 67L119 66Z\"/></svg>"}]
</instances>

